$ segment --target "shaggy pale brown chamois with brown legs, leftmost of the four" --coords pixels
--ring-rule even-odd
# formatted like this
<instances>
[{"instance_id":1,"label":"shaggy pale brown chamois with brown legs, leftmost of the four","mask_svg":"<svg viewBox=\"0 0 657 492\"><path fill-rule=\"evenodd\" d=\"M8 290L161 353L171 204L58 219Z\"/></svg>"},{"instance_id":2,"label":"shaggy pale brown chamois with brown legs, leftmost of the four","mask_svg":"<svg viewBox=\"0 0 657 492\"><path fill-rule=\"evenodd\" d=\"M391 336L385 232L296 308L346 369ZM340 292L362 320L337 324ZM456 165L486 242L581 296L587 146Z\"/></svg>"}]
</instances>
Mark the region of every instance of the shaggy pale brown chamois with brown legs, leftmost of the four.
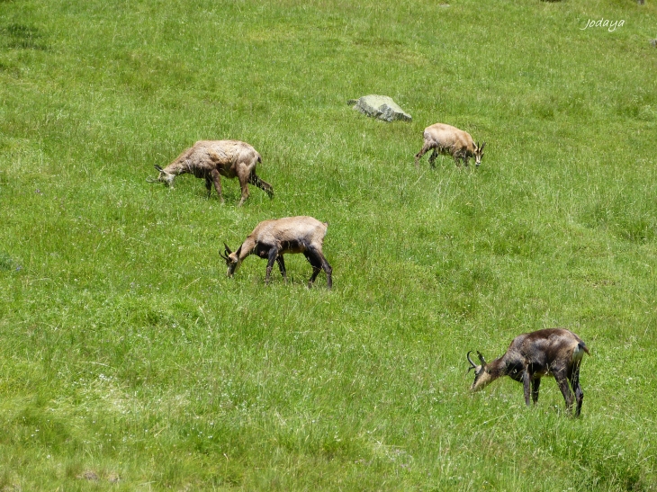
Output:
<instances>
[{"instance_id":1,"label":"shaggy pale brown chamois with brown legs, leftmost of the four","mask_svg":"<svg viewBox=\"0 0 657 492\"><path fill-rule=\"evenodd\" d=\"M221 194L221 176L237 177L242 188L241 206L248 198L248 183L263 189L270 198L274 197L274 188L264 182L256 174L256 165L262 162L257 150L246 142L239 140L200 140L187 148L171 164L162 169L159 165L157 179L148 179L149 183L166 183L174 187L174 179L178 174L193 174L205 180L205 188L210 198L212 183L223 203Z\"/></svg>"}]
</instances>

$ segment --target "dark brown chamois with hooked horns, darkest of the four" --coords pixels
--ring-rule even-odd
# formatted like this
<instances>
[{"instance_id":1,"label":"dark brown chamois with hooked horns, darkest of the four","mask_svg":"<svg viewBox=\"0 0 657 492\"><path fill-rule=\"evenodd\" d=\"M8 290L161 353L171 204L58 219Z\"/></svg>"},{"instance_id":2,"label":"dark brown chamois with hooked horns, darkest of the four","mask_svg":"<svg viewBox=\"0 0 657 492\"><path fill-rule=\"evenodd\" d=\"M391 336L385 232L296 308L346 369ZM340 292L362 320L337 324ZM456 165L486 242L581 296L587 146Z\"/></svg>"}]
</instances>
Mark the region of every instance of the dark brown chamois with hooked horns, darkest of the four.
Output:
<instances>
[{"instance_id":1,"label":"dark brown chamois with hooked horns, darkest of the four","mask_svg":"<svg viewBox=\"0 0 657 492\"><path fill-rule=\"evenodd\" d=\"M467 353L470 368L474 369L474 382L471 391L479 391L502 376L522 382L525 387L525 403L529 406L529 396L536 405L541 377L553 375L566 400L566 410L572 412L572 389L577 398L575 416L580 416L584 392L580 386L580 365L584 353L589 353L586 344L574 333L549 328L516 336L509 345L507 353L491 363L486 363L481 352L477 352L481 365L477 365ZM531 384L531 390L530 390Z\"/></svg>"}]
</instances>

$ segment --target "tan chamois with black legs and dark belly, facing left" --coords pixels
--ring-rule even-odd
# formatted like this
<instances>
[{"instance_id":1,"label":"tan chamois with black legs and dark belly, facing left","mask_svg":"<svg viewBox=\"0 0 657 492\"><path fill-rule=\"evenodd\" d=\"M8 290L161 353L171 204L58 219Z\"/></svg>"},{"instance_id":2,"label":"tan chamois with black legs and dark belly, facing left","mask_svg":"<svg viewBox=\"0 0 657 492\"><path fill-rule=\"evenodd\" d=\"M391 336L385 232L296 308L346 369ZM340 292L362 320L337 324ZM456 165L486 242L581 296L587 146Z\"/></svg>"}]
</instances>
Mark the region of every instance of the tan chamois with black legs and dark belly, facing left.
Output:
<instances>
[{"instance_id":1,"label":"tan chamois with black legs and dark belly, facing left","mask_svg":"<svg viewBox=\"0 0 657 492\"><path fill-rule=\"evenodd\" d=\"M329 224L326 222L320 222L312 217L264 220L253 229L253 232L248 235L236 252L230 251L229 246L224 243L223 246L226 246L224 255L221 255L221 252L219 255L226 260L229 277L233 276L248 255L267 258L265 282L269 283L274 262L278 264L281 274L287 282L283 255L285 253L303 253L312 265L312 276L308 282L308 288L312 287L312 282L315 282L317 275L323 269L326 272L327 286L330 289L333 285L331 277L333 270L321 251L328 227Z\"/></svg>"}]
</instances>

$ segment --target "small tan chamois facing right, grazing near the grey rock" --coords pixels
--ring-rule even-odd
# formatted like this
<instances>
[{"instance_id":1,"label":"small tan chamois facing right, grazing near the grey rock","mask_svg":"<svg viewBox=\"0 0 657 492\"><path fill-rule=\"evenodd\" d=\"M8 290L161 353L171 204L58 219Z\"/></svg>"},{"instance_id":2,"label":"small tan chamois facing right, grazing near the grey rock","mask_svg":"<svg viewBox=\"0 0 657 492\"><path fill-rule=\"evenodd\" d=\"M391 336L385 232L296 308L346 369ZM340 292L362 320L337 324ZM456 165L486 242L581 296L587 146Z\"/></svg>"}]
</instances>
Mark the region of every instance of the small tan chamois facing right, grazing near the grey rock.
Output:
<instances>
[{"instance_id":1,"label":"small tan chamois facing right, grazing near the grey rock","mask_svg":"<svg viewBox=\"0 0 657 492\"><path fill-rule=\"evenodd\" d=\"M473 138L467 131L443 123L436 123L424 129L424 146L415 155L415 166L419 167L419 159L433 149L431 156L429 156L431 167L435 167L434 161L438 154L449 154L454 157L456 165L461 165L459 159L463 159L464 165L468 165L468 159L474 157L474 162L479 167L482 164L483 147L485 145L486 142L483 142L482 147L479 147L479 144L474 143Z\"/></svg>"}]
</instances>

